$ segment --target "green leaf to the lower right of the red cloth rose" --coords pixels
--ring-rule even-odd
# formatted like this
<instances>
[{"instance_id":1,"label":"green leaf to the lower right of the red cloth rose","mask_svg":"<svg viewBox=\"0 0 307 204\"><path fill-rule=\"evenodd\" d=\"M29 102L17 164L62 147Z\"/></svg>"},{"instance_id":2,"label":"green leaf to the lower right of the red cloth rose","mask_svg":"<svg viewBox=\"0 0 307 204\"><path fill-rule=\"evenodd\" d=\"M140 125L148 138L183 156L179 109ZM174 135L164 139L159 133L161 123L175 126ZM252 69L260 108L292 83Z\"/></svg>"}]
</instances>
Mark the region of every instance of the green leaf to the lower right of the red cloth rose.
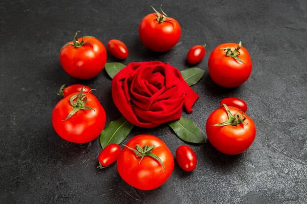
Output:
<instances>
[{"instance_id":1,"label":"green leaf to the lower right of the red cloth rose","mask_svg":"<svg viewBox=\"0 0 307 204\"><path fill-rule=\"evenodd\" d=\"M199 127L197 127L192 120L188 118L181 117L179 120L169 122L168 125L183 141L192 143L205 142L205 134L203 133L203 131Z\"/></svg>"}]
</instances>

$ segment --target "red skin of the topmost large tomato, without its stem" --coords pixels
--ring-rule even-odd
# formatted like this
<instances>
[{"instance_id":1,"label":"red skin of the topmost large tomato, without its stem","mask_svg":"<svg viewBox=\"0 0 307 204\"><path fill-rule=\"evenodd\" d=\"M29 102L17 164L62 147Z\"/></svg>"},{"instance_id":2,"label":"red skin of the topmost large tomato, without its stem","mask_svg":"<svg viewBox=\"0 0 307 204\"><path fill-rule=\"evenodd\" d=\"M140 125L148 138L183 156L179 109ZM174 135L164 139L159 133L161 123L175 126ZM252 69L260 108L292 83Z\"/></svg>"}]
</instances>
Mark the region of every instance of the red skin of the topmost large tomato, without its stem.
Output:
<instances>
[{"instance_id":1,"label":"red skin of the topmost large tomato, without its stem","mask_svg":"<svg viewBox=\"0 0 307 204\"><path fill-rule=\"evenodd\" d=\"M181 28L173 18L167 17L165 22L159 23L156 17L156 13L144 17L139 26L139 35L147 48L156 52L165 52L177 44Z\"/></svg>"}]
</instances>

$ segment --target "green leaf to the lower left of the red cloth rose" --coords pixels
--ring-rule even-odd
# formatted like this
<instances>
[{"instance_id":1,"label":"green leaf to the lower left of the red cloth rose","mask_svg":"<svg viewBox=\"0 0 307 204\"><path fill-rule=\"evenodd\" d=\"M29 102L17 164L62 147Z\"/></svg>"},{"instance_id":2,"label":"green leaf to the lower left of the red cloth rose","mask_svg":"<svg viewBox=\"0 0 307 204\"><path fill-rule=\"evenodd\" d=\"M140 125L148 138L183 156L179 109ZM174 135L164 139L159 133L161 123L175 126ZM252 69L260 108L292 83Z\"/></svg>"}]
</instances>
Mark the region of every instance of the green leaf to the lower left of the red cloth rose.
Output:
<instances>
[{"instance_id":1,"label":"green leaf to the lower left of the red cloth rose","mask_svg":"<svg viewBox=\"0 0 307 204\"><path fill-rule=\"evenodd\" d=\"M120 144L131 132L133 124L125 117L111 121L100 134L100 144L102 149L109 144Z\"/></svg>"}]
</instances>

